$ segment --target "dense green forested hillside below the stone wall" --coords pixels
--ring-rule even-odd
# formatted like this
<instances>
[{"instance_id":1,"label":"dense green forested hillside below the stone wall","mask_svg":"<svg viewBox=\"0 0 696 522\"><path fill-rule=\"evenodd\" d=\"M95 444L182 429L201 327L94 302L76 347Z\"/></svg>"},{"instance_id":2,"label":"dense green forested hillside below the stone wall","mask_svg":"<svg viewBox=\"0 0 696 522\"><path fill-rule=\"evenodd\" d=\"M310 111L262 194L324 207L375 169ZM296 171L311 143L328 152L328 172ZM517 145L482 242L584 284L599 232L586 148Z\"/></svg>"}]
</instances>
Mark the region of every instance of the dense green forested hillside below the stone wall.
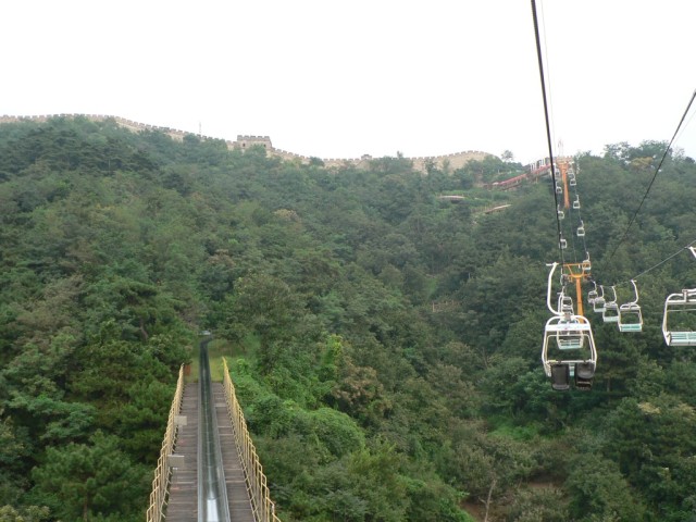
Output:
<instances>
[{"instance_id":1,"label":"dense green forested hillside below the stone wall","mask_svg":"<svg viewBox=\"0 0 696 522\"><path fill-rule=\"evenodd\" d=\"M660 264L696 239L692 159L619 243L663 147L575 159L595 277L659 266L644 332L586 312L594 387L556 393L551 185L474 186L521 165L328 170L109 121L0 125L0 520L142 520L201 330L285 522L696 520L696 358L660 330L696 287L688 253Z\"/></svg>"}]
</instances>

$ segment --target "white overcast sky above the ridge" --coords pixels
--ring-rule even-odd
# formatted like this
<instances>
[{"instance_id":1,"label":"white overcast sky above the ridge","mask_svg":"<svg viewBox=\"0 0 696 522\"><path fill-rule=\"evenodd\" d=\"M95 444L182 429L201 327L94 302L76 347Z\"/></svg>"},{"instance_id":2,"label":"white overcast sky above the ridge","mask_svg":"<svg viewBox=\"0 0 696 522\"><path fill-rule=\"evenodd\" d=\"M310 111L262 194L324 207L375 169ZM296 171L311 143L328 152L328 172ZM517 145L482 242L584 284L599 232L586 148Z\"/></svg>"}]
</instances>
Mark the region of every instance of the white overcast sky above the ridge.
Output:
<instances>
[{"instance_id":1,"label":"white overcast sky above the ridge","mask_svg":"<svg viewBox=\"0 0 696 522\"><path fill-rule=\"evenodd\" d=\"M671 138L696 89L696 2L537 9L555 153ZM268 135L321 158L547 156L527 0L8 0L0 20L0 114ZM675 146L696 157L696 122Z\"/></svg>"}]
</instances>

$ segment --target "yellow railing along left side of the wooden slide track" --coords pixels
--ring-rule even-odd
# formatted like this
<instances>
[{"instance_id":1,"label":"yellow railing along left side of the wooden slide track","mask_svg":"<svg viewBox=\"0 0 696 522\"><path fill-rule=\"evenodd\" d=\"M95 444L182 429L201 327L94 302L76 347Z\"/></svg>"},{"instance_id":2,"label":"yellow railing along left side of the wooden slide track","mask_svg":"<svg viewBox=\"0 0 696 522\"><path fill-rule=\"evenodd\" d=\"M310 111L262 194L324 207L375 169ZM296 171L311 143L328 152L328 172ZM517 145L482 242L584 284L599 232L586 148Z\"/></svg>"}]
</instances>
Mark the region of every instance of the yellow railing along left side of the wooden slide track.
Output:
<instances>
[{"instance_id":1,"label":"yellow railing along left side of the wooden slide track","mask_svg":"<svg viewBox=\"0 0 696 522\"><path fill-rule=\"evenodd\" d=\"M178 370L178 381L176 382L176 391L174 400L170 408L170 419L166 422L166 432L164 432L164 440L162 440L162 449L160 458L157 460L157 470L154 470L154 478L152 480L152 493L150 493L150 506L148 507L147 522L161 522L163 509L166 502L166 494L170 488L171 468L167 463L167 457L174 451L176 443L176 423L175 417L182 411L182 398L184 396L184 364Z\"/></svg>"}]
</instances>

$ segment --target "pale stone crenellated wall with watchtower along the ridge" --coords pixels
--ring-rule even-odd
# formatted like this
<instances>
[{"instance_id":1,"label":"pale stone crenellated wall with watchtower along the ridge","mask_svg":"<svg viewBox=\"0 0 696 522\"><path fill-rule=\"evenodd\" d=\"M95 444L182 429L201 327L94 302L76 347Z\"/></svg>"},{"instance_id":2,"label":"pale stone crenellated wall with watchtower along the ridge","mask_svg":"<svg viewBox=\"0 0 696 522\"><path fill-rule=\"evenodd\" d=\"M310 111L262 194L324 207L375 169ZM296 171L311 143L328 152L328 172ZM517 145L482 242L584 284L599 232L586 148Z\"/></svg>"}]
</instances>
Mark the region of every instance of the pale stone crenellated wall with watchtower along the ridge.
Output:
<instances>
[{"instance_id":1,"label":"pale stone crenellated wall with watchtower along the ridge","mask_svg":"<svg viewBox=\"0 0 696 522\"><path fill-rule=\"evenodd\" d=\"M1 123L15 123L23 121L32 121L32 122L47 122L52 117L84 117L86 120L92 122L103 122L107 120L113 120L119 126L127 128L132 132L139 133L142 130L159 130L172 137L172 139L182 141L184 136L195 135L200 139L220 139L213 138L211 136L201 136L196 135L195 133L187 133L184 130L178 130L170 127L159 127L156 125L148 125L145 123L134 122L132 120L126 120L125 117L111 116L104 114L49 114L49 115L36 115L36 116L10 116L3 115L0 116ZM228 149L246 149L252 146L261 146L266 149L269 154L276 156L287 161L299 161L301 163L309 163L313 158L308 156L296 154L294 152L288 152L287 150L276 149L271 144L271 138L269 136L237 136L235 141L225 140ZM487 152L481 152L478 150L467 150L464 152L455 152L446 156L431 156L431 157L420 157L420 158L407 158L413 163L413 169L425 172L426 165L432 164L438 169L443 169L448 165L449 169L460 169L467 162L471 160L483 160L487 156L492 156ZM373 160L371 156L362 156L361 158L319 158L325 166L345 166L346 164L360 166L361 164L366 164L370 160Z\"/></svg>"}]
</instances>

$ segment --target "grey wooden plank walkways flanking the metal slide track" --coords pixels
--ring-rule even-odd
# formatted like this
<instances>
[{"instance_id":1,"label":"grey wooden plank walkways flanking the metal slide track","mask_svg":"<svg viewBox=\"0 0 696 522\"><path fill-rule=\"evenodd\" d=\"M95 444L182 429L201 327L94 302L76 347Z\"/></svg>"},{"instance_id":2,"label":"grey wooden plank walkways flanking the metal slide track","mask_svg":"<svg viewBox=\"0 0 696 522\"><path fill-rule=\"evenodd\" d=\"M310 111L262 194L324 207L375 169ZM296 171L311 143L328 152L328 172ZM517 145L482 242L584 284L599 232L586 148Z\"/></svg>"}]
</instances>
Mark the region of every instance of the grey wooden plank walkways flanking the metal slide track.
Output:
<instances>
[{"instance_id":1,"label":"grey wooden plank walkways flanking the metal slide track","mask_svg":"<svg viewBox=\"0 0 696 522\"><path fill-rule=\"evenodd\" d=\"M182 415L186 417L186 425L179 427L174 448L174 455L184 456L184 465L173 469L166 522L198 521L198 383L190 383L184 389ZM234 522L254 522L227 414L225 391L222 383L213 383L212 387L229 518Z\"/></svg>"}]
</instances>

